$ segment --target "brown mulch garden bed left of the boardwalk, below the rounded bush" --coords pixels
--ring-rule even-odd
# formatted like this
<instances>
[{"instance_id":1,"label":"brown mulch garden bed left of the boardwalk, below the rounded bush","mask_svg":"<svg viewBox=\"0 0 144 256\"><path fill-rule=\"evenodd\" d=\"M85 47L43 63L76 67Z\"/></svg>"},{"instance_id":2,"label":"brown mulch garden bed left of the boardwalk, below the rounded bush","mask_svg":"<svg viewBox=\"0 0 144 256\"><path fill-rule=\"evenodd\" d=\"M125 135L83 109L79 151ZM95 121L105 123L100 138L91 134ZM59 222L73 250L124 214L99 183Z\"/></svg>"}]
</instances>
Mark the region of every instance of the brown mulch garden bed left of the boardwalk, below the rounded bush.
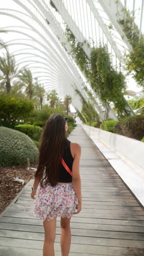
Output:
<instances>
[{"instance_id":1,"label":"brown mulch garden bed left of the boardwalk, below the rounded bush","mask_svg":"<svg viewBox=\"0 0 144 256\"><path fill-rule=\"evenodd\" d=\"M35 168L37 166L34 166ZM15 171L17 177L24 179L25 183L14 182ZM9 203L21 191L27 182L32 179L34 170L27 170L26 166L21 167L0 167L0 214L5 210Z\"/></svg>"}]
</instances>

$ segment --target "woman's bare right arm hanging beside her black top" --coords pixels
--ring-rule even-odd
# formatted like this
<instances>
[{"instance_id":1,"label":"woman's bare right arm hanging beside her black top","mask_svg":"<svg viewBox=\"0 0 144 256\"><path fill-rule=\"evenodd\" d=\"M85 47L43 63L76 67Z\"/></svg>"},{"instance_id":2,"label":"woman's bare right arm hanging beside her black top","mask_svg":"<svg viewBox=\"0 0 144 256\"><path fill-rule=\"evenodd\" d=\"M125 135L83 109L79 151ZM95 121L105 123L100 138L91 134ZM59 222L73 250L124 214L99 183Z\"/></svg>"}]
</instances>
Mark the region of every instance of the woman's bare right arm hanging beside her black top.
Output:
<instances>
[{"instance_id":1,"label":"woman's bare right arm hanging beside her black top","mask_svg":"<svg viewBox=\"0 0 144 256\"><path fill-rule=\"evenodd\" d=\"M77 212L81 211L81 178L80 178L80 158L81 158L81 146L75 143L75 157L72 167L72 181L74 185L74 189L76 192L76 197L79 201L79 206L77 207Z\"/></svg>"}]
</instances>

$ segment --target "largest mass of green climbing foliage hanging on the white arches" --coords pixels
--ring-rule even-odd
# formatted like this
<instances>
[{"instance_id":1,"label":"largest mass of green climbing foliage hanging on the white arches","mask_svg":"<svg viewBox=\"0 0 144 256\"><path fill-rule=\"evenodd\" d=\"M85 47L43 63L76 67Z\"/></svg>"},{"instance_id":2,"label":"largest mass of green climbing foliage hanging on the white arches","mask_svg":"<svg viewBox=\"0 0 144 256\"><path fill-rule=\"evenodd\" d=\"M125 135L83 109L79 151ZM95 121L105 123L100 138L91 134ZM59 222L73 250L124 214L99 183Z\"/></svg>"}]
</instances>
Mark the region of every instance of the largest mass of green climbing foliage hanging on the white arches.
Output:
<instances>
[{"instance_id":1,"label":"largest mass of green climbing foliage hanging on the white arches","mask_svg":"<svg viewBox=\"0 0 144 256\"><path fill-rule=\"evenodd\" d=\"M113 102L118 117L129 115L123 91L126 89L125 77L113 69L106 47L93 48L91 52L91 86L98 92L106 105Z\"/></svg>"}]
</instances>

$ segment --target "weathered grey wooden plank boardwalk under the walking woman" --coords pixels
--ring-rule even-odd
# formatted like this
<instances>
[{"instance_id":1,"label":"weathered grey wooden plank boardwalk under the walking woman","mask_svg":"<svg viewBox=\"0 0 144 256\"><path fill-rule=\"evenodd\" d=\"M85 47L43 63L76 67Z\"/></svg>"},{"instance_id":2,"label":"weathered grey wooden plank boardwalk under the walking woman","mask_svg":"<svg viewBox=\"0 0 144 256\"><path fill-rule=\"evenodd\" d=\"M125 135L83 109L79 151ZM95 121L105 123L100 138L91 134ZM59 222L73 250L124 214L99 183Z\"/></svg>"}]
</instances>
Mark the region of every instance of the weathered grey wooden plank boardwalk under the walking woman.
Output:
<instances>
[{"instance_id":1,"label":"weathered grey wooden plank boardwalk under the walking woman","mask_svg":"<svg viewBox=\"0 0 144 256\"><path fill-rule=\"evenodd\" d=\"M143 256L144 211L81 126L69 139L81 144L82 211L71 219L70 256ZM42 256L43 223L32 214L28 183L0 219L0 256ZM57 219L56 256L60 251Z\"/></svg>"}]
</instances>

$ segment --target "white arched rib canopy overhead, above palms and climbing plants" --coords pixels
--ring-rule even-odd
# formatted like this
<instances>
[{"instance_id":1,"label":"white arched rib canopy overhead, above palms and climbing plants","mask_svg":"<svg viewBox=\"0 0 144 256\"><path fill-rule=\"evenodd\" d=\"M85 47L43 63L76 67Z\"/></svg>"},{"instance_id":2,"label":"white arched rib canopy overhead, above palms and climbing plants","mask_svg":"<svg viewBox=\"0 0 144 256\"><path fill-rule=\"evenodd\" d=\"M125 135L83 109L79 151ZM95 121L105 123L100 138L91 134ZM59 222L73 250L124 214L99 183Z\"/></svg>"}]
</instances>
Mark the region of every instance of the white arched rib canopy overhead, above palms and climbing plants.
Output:
<instances>
[{"instance_id":1,"label":"white arched rib canopy overhead, above palms and climbing plants","mask_svg":"<svg viewBox=\"0 0 144 256\"><path fill-rule=\"evenodd\" d=\"M71 95L73 106L81 111L80 98L73 86L87 99L82 87L87 80L70 54L66 26L81 43L107 44L113 67L119 70L124 65L124 51L131 49L131 45L118 17L125 19L123 8L140 8L136 22L141 33L143 5L143 0L5 0L0 3L0 30L7 33L1 33L1 38L20 68L29 68L47 92L56 89L61 97ZM83 50L89 57L91 48L83 44ZM103 102L98 95L96 100L95 109L102 116ZM129 106L128 109L131 110ZM109 113L117 119L111 107Z\"/></svg>"}]
</instances>

